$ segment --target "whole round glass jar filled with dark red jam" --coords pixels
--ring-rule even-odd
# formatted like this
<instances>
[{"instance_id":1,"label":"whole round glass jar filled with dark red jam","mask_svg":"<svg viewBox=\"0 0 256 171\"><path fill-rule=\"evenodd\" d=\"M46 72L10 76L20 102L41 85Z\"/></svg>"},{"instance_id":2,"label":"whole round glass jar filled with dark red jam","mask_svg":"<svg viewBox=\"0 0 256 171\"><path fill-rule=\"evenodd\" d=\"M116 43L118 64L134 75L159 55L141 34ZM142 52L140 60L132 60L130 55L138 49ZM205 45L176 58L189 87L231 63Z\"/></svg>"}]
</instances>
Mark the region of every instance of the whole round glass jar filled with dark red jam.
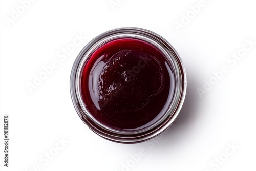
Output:
<instances>
[{"instance_id":1,"label":"whole round glass jar filled with dark red jam","mask_svg":"<svg viewBox=\"0 0 256 171\"><path fill-rule=\"evenodd\" d=\"M118 28L90 41L77 56L71 97L99 136L138 143L165 131L186 93L182 61L167 40L141 28Z\"/></svg>"}]
</instances>

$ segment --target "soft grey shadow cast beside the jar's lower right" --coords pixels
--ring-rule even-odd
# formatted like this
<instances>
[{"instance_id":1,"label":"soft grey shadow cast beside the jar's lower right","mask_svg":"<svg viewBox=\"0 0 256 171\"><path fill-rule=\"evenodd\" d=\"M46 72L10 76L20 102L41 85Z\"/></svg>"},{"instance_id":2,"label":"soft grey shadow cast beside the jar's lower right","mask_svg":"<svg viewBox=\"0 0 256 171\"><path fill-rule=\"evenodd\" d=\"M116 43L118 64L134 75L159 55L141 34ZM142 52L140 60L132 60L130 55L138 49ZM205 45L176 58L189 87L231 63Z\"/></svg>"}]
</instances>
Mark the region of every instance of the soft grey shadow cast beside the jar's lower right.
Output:
<instances>
[{"instance_id":1,"label":"soft grey shadow cast beside the jar's lower right","mask_svg":"<svg viewBox=\"0 0 256 171\"><path fill-rule=\"evenodd\" d=\"M200 97L197 94L197 76L192 69L186 69L187 74L187 92L182 109L174 121L174 123L162 134L155 137L153 140L154 148L158 148L160 151L166 148L175 148L186 141L186 137L191 135L188 130L193 126L196 118L197 111L199 109Z\"/></svg>"}]
</instances>

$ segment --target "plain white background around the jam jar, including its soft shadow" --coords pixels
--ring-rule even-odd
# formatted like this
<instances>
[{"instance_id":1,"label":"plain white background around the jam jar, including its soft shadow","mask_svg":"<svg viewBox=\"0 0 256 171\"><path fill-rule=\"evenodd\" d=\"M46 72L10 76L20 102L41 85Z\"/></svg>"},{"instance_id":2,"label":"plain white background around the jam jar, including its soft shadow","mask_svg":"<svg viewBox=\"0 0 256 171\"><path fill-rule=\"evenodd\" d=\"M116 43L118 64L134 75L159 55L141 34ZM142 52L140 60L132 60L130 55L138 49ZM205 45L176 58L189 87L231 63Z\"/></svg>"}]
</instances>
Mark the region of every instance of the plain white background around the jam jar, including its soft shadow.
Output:
<instances>
[{"instance_id":1,"label":"plain white background around the jam jar, including its soft shadow","mask_svg":"<svg viewBox=\"0 0 256 171\"><path fill-rule=\"evenodd\" d=\"M109 0L36 0L9 24L7 17L21 3L1 1L1 167L15 171L255 170L256 45L235 65L227 61L232 53L243 52L246 39L256 41L253 1L205 0L197 14L191 13L190 6L199 0L116 1L112 8ZM188 24L183 18L187 14ZM181 23L182 18L184 25L177 29L175 22ZM187 72L187 96L180 115L168 132L147 143L118 144L99 137L78 117L70 97L70 72L79 51L98 34L125 26L166 38ZM72 44L75 35L86 39L61 60L57 54ZM31 93L27 83L33 83L34 76L52 61L58 67ZM228 73L200 98L197 89L204 89L204 80L214 80L212 72L223 66ZM9 115L8 168L3 166L4 115ZM58 143L60 139L67 141L65 146ZM229 145L236 149L228 149L227 155ZM138 156L139 151L143 155ZM54 155L51 160L45 156L49 152Z\"/></svg>"}]
</instances>

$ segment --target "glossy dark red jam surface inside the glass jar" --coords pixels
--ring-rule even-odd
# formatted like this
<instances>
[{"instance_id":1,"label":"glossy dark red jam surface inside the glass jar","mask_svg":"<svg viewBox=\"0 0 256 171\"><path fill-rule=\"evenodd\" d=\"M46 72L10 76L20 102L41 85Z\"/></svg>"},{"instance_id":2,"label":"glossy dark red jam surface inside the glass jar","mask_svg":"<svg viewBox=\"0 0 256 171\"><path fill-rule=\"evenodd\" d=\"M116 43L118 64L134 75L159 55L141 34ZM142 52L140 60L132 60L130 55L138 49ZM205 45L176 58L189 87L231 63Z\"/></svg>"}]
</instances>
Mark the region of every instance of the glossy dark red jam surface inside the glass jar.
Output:
<instances>
[{"instance_id":1,"label":"glossy dark red jam surface inside the glass jar","mask_svg":"<svg viewBox=\"0 0 256 171\"><path fill-rule=\"evenodd\" d=\"M156 47L135 38L110 41L89 56L81 74L82 100L98 123L139 131L169 108L174 75Z\"/></svg>"}]
</instances>

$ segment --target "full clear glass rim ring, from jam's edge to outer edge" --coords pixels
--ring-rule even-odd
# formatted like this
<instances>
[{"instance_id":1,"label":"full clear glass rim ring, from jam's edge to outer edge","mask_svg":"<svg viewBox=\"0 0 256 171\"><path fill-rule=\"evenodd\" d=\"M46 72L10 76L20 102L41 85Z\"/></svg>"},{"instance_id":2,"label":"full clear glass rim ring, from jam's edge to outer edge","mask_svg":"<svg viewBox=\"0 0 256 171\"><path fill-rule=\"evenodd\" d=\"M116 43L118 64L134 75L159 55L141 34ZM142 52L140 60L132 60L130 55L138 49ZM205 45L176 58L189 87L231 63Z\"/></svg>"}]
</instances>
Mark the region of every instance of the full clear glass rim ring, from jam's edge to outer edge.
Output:
<instances>
[{"instance_id":1,"label":"full clear glass rim ring, from jam's edge to outer edge","mask_svg":"<svg viewBox=\"0 0 256 171\"><path fill-rule=\"evenodd\" d=\"M164 115L166 118L162 118L162 120L158 121L158 123L154 124L152 127L137 132L116 131L113 129L108 129L108 127L105 127L104 125L98 123L94 118L90 116L89 111L86 110L79 90L79 80L81 75L80 72L87 57L90 56L90 54L92 54L93 51L97 49L97 47L101 46L102 44L105 44L107 41L111 41L118 37L119 39L120 37L127 38L127 35L133 35L134 37L137 36L137 38L143 38L143 40L145 41L151 41L154 42L155 45L160 46L161 51L165 53L165 57L168 57L173 61L172 65L175 71L174 74L177 77L175 86L176 90L174 92L175 95L172 100L173 105L169 106L168 111ZM78 115L92 131L94 131L99 136L114 142L138 143L146 141L161 134L177 118L185 99L186 73L184 66L182 64L182 60L179 57L177 51L163 37L146 29L135 27L123 27L109 30L98 35L81 50L81 52L78 54L74 62L71 71L70 92L73 104Z\"/></svg>"}]
</instances>

